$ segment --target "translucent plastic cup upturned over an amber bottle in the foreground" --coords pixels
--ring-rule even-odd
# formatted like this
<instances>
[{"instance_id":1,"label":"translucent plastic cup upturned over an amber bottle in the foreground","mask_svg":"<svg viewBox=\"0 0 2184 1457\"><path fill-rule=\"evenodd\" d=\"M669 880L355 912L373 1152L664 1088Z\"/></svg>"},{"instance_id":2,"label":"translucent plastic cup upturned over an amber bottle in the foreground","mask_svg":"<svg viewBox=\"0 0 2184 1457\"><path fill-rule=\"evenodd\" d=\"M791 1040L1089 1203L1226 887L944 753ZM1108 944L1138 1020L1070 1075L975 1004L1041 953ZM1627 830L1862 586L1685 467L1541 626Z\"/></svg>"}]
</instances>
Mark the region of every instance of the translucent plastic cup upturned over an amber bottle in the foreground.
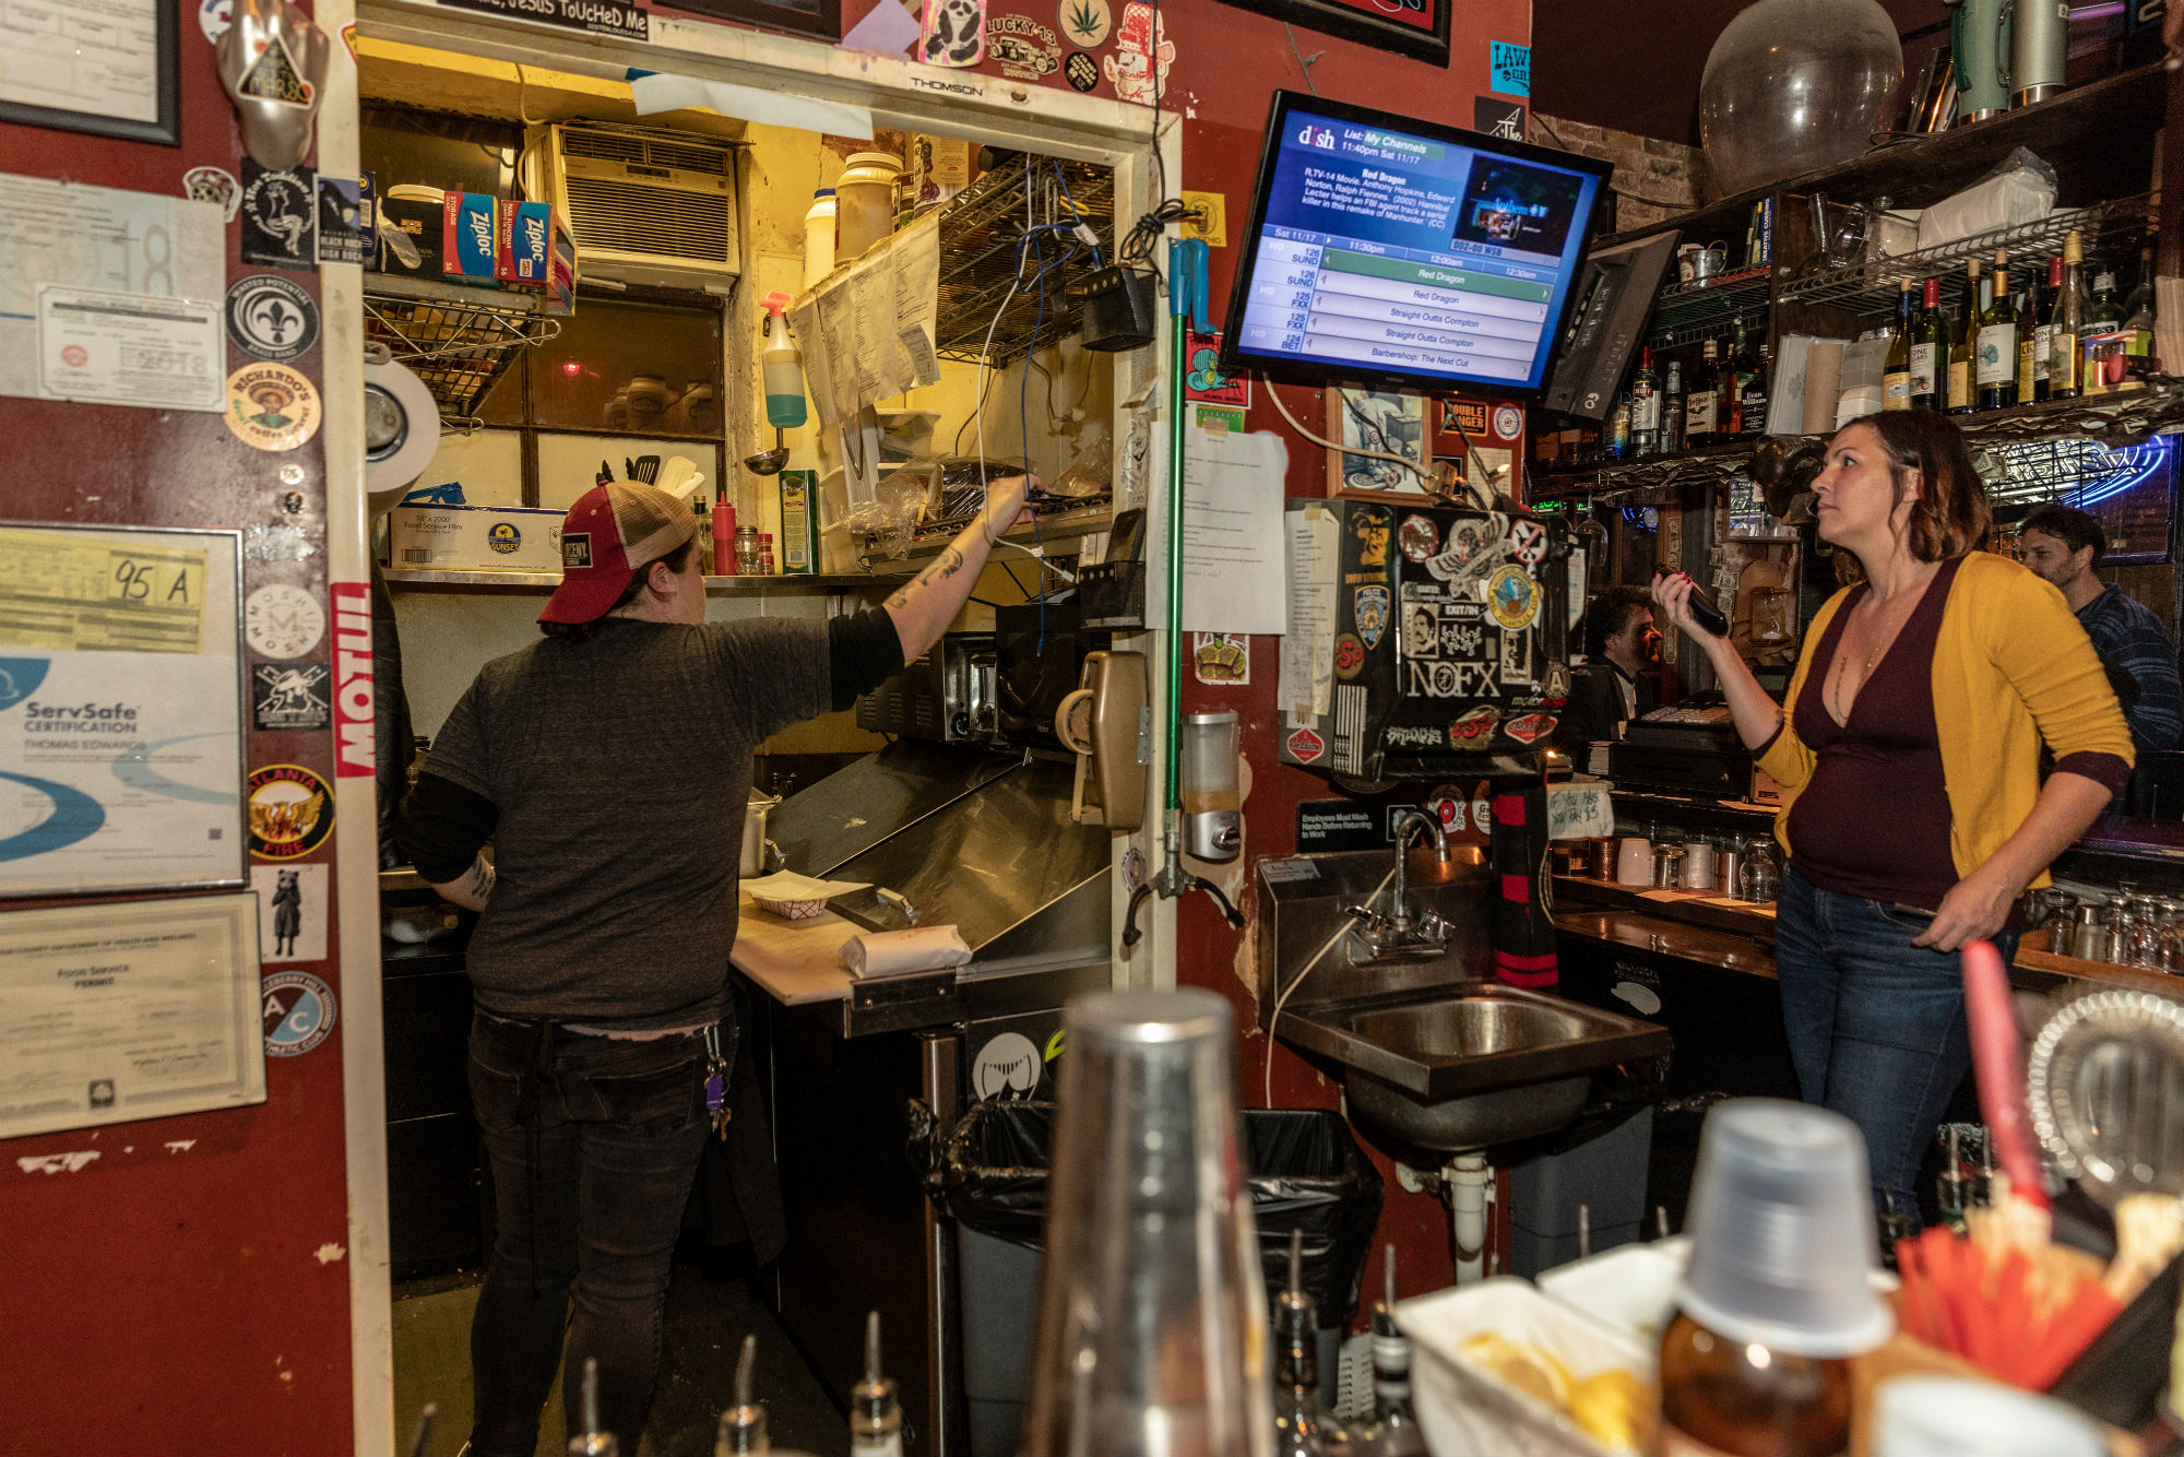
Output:
<instances>
[{"instance_id":1,"label":"translucent plastic cup upturned over an amber bottle in the foreground","mask_svg":"<svg viewBox=\"0 0 2184 1457\"><path fill-rule=\"evenodd\" d=\"M1677 1304L1732 1341L1821 1361L1889 1339L1859 1127L1824 1107L1734 1099L1706 1116Z\"/></svg>"}]
</instances>

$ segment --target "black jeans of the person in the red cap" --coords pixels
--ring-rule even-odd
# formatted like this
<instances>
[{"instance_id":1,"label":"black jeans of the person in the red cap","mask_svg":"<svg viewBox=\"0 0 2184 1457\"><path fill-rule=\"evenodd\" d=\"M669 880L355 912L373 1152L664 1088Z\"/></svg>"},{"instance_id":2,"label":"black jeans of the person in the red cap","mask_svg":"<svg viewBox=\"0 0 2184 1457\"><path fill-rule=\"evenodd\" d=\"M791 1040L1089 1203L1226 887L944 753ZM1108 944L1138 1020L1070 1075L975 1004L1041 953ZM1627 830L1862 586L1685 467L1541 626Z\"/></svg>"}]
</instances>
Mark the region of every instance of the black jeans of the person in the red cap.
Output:
<instances>
[{"instance_id":1,"label":"black jeans of the person in the red cap","mask_svg":"<svg viewBox=\"0 0 2184 1457\"><path fill-rule=\"evenodd\" d=\"M705 1044L627 1042L476 1018L470 1097L494 1160L500 1228L470 1324L478 1457L531 1457L561 1365L583 1431L583 1361L598 1424L636 1453L660 1376L660 1319L684 1204L705 1149ZM577 1315L570 1319L570 1293Z\"/></svg>"}]
</instances>

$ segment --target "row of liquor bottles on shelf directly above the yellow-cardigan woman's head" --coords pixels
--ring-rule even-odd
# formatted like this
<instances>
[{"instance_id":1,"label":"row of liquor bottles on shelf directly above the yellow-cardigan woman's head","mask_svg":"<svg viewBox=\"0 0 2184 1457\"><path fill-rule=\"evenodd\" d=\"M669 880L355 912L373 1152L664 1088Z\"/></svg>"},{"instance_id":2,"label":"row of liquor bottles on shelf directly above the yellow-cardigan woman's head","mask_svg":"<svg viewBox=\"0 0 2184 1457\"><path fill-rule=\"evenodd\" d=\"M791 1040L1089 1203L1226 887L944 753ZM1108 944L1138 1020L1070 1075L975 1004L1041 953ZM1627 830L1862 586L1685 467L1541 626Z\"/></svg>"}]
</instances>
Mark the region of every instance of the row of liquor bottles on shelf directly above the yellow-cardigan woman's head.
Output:
<instances>
[{"instance_id":1,"label":"row of liquor bottles on shelf directly above the yellow-cardigan woman's head","mask_svg":"<svg viewBox=\"0 0 2184 1457\"><path fill-rule=\"evenodd\" d=\"M2153 365L2153 249L2140 251L2129 295L2116 293L2114 266L2094 266L2090 288L2086 275L2084 240L2068 234L2062 256L2031 266L2022 291L2011 288L2005 249L1985 275L1968 260L1961 319L1942 310L1939 277L1928 277L1920 297L1904 280L1883 406L1970 415L2143 389Z\"/></svg>"}]
</instances>

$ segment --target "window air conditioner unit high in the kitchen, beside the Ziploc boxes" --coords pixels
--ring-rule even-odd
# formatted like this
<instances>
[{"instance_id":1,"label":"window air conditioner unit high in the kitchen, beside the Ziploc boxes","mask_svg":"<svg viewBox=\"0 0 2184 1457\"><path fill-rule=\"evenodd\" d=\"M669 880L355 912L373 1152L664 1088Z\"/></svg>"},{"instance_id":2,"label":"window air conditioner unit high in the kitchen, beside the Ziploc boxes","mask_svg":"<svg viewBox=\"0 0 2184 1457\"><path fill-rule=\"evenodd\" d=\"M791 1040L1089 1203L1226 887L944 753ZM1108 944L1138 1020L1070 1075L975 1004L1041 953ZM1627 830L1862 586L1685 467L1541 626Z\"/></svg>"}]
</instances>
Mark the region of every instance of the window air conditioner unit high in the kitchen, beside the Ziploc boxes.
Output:
<instances>
[{"instance_id":1,"label":"window air conditioner unit high in the kitchen, beside the Ziploc boxes","mask_svg":"<svg viewBox=\"0 0 2184 1457\"><path fill-rule=\"evenodd\" d=\"M583 277L727 293L743 271L736 149L688 131L533 127L524 194L568 218Z\"/></svg>"}]
</instances>

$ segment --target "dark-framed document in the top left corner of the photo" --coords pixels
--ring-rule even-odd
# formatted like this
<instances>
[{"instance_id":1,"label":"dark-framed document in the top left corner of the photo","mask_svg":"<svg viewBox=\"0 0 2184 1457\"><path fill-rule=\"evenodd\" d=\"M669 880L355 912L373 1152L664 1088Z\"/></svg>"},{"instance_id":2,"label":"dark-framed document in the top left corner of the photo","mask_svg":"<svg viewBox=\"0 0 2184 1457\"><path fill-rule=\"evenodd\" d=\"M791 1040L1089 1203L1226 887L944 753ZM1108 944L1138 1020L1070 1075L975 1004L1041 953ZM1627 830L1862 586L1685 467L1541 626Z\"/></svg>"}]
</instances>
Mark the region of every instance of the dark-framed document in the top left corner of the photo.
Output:
<instances>
[{"instance_id":1,"label":"dark-framed document in the top left corner of the photo","mask_svg":"<svg viewBox=\"0 0 2184 1457\"><path fill-rule=\"evenodd\" d=\"M173 0L109 0L76 24L70 7L0 0L0 122L181 146L179 15Z\"/></svg>"}]
</instances>

